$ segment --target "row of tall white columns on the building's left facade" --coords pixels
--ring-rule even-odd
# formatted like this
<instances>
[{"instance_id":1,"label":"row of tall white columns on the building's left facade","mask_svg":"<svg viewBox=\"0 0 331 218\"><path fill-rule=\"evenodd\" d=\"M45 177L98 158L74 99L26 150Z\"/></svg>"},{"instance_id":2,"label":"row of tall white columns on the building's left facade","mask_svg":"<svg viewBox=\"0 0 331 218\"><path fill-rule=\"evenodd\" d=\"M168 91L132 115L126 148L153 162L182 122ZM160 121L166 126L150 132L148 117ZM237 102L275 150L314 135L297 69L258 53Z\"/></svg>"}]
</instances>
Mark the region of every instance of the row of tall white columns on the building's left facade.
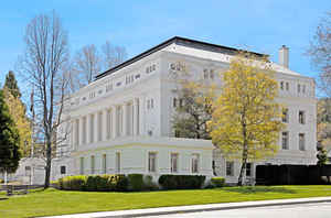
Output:
<instances>
[{"instance_id":1,"label":"row of tall white columns on the building's left facade","mask_svg":"<svg viewBox=\"0 0 331 218\"><path fill-rule=\"evenodd\" d=\"M72 121L74 148L119 137L141 134L141 108L139 99L115 105Z\"/></svg>"}]
</instances>

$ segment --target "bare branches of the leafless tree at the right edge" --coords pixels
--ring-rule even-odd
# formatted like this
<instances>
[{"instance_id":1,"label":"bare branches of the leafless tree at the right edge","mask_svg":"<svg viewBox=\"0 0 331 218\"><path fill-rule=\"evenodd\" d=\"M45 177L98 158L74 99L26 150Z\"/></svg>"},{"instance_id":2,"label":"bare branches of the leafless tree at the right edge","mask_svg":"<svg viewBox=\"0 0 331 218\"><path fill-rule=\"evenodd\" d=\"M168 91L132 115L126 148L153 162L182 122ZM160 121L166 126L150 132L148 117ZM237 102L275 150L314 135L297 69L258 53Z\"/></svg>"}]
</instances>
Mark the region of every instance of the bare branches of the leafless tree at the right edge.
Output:
<instances>
[{"instance_id":1,"label":"bare branches of the leafless tree at the right edge","mask_svg":"<svg viewBox=\"0 0 331 218\"><path fill-rule=\"evenodd\" d=\"M310 42L308 55L312 64L320 70L321 90L331 97L331 11L321 20Z\"/></svg>"}]
</instances>

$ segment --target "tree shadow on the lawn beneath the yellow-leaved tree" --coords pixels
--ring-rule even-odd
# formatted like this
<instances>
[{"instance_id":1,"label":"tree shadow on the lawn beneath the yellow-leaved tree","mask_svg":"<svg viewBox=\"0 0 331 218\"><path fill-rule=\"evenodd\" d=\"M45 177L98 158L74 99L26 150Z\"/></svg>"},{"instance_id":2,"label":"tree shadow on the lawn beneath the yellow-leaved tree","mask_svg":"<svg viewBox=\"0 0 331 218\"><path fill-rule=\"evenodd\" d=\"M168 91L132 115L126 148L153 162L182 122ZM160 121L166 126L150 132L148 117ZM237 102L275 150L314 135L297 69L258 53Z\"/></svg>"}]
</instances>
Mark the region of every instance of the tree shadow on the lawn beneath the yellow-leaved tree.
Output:
<instances>
[{"instance_id":1,"label":"tree shadow on the lawn beneath the yellow-leaved tree","mask_svg":"<svg viewBox=\"0 0 331 218\"><path fill-rule=\"evenodd\" d=\"M226 192L241 193L241 194L259 194L259 193L284 193L296 194L296 190L288 189L286 187L268 187L268 186L243 186L243 187L229 187L224 189Z\"/></svg>"}]
</instances>

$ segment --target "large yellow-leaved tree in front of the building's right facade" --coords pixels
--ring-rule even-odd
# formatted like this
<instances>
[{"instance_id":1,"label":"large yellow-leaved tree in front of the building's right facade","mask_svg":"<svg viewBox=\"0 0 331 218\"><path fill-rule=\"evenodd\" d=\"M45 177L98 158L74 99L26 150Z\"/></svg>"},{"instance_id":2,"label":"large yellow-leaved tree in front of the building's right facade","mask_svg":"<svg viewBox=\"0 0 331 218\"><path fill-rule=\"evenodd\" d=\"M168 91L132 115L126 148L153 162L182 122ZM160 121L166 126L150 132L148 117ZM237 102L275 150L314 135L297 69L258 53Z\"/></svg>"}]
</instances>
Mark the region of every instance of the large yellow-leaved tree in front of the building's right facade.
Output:
<instances>
[{"instance_id":1,"label":"large yellow-leaved tree in front of the building's right facade","mask_svg":"<svg viewBox=\"0 0 331 218\"><path fill-rule=\"evenodd\" d=\"M241 160L238 185L247 162L275 155L282 128L275 102L278 84L265 59L247 54L233 58L209 123L212 141L228 159Z\"/></svg>"}]
</instances>

